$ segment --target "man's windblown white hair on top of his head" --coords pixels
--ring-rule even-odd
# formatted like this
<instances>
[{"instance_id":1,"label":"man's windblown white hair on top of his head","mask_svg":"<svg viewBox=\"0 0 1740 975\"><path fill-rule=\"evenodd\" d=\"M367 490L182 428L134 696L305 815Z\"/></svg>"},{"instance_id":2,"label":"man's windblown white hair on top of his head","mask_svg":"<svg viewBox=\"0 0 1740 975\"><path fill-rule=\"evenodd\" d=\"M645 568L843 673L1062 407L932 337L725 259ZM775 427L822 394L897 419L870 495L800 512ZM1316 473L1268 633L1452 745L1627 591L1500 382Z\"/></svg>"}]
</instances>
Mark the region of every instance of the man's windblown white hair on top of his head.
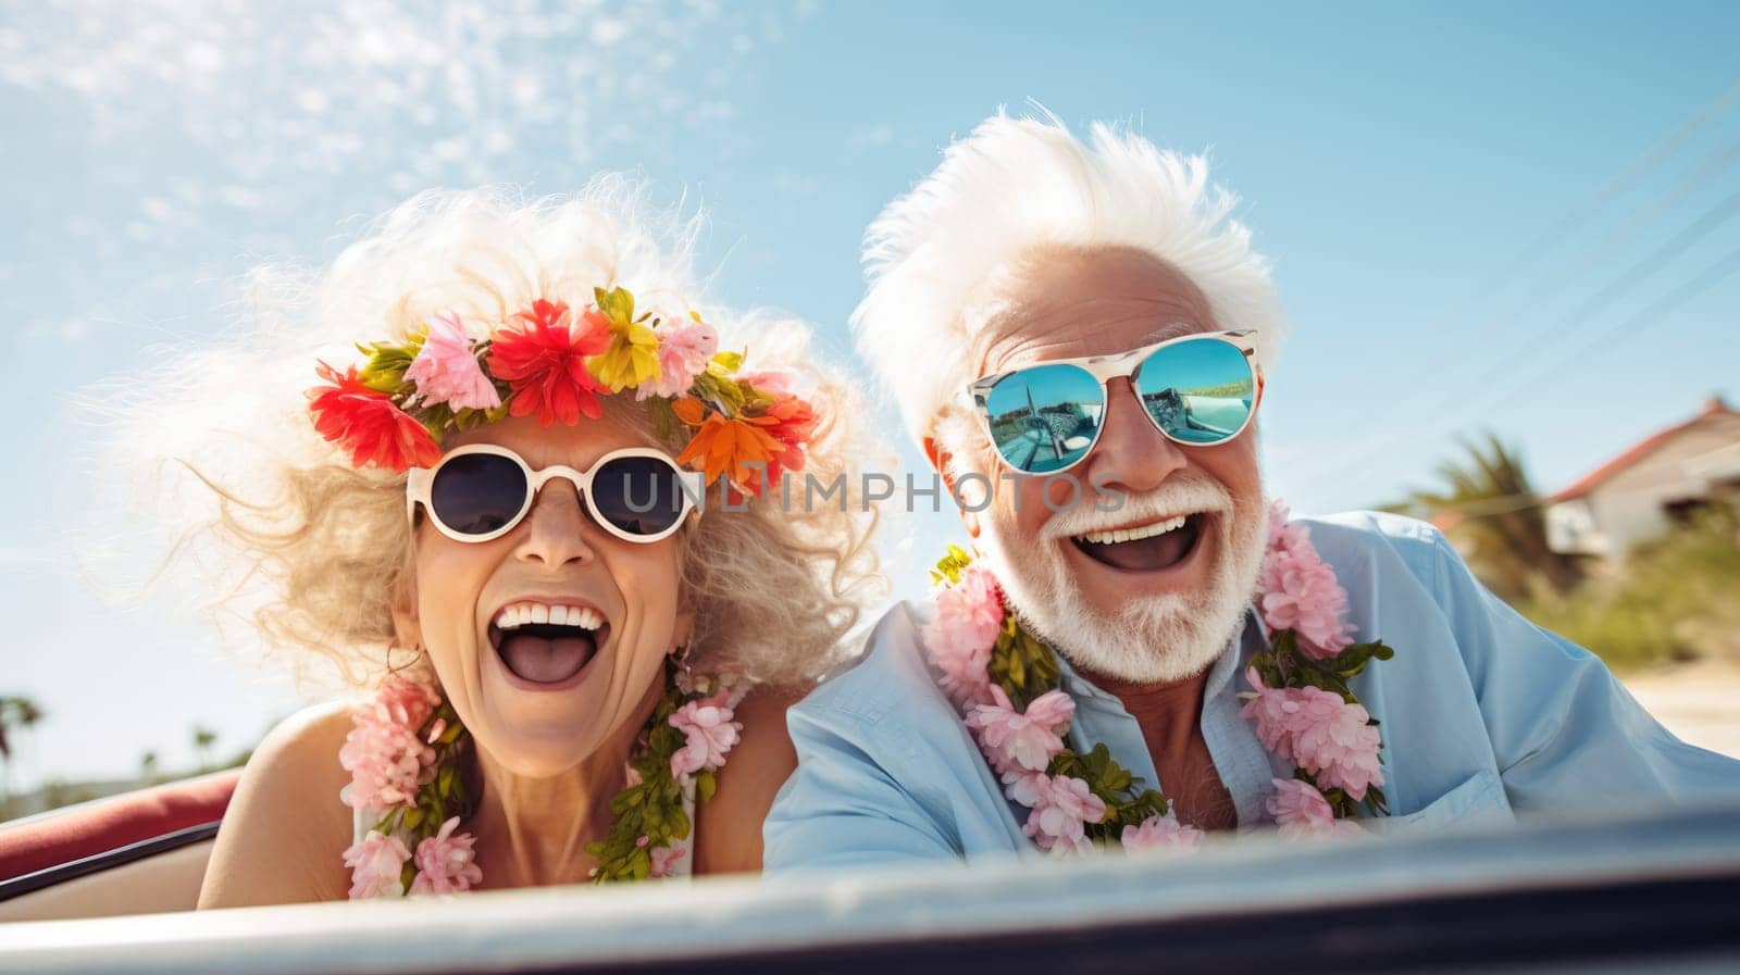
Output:
<instances>
[{"instance_id":1,"label":"man's windblown white hair on top of his head","mask_svg":"<svg viewBox=\"0 0 1740 975\"><path fill-rule=\"evenodd\" d=\"M1267 370L1286 315L1268 262L1230 216L1237 203L1209 184L1202 156L1103 123L1084 144L1053 115L999 111L865 233L870 290L853 313L860 355L922 440L976 379L966 351L1000 269L1044 247L1131 247L1195 283L1221 328L1258 330Z\"/></svg>"}]
</instances>

